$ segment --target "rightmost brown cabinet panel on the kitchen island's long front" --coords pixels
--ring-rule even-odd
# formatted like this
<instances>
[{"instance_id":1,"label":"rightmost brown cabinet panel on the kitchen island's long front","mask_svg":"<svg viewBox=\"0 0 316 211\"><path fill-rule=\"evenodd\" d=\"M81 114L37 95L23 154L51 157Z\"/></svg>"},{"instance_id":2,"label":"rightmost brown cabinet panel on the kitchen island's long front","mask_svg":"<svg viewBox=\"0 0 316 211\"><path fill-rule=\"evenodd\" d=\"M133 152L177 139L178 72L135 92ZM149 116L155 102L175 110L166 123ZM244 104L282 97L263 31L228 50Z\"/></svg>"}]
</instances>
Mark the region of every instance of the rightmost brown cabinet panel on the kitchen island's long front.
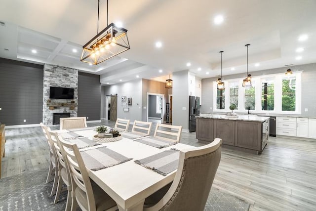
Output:
<instances>
[{"instance_id":1,"label":"rightmost brown cabinet panel on the kitchen island's long front","mask_svg":"<svg viewBox=\"0 0 316 211\"><path fill-rule=\"evenodd\" d=\"M261 123L236 121L235 124L235 146L261 151Z\"/></svg>"}]
</instances>

